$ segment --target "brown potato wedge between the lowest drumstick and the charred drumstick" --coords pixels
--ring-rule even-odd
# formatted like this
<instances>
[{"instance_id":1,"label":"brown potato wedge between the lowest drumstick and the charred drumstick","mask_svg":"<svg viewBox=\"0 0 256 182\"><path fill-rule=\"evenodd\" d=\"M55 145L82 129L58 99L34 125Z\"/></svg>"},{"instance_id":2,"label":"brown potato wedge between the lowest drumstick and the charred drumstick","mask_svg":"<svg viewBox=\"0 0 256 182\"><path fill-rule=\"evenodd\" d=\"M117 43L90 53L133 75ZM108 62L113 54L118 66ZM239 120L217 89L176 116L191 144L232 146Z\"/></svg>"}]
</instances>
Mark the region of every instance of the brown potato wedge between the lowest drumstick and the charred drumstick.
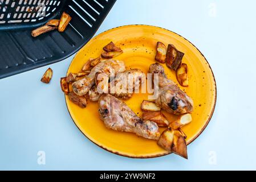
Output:
<instances>
[{"instance_id":1,"label":"brown potato wedge between the lowest drumstick and the charred drumstick","mask_svg":"<svg viewBox=\"0 0 256 182\"><path fill-rule=\"evenodd\" d=\"M147 111L143 112L142 119L144 121L149 120L157 123L158 126L166 127L169 125L169 122L164 114L161 111Z\"/></svg>"}]
</instances>

